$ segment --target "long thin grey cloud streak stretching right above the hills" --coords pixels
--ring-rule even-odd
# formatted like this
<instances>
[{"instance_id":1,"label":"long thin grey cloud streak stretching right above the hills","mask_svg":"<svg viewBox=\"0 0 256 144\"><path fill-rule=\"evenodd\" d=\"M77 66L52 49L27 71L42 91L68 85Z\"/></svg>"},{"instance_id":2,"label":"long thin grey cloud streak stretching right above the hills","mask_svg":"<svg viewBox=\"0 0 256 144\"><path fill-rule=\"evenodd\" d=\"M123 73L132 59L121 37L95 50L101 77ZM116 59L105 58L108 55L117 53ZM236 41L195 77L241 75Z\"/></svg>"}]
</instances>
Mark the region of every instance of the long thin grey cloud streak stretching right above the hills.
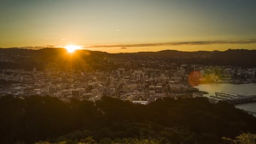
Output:
<instances>
[{"instance_id":1,"label":"long thin grey cloud streak stretching right above the hills","mask_svg":"<svg viewBox=\"0 0 256 144\"><path fill-rule=\"evenodd\" d=\"M112 44L92 45L89 47L147 47L147 46L182 46L182 45L211 45L211 44L254 44L256 39L246 40L216 40L216 41L181 41L168 43L147 43L147 44Z\"/></svg>"}]
</instances>

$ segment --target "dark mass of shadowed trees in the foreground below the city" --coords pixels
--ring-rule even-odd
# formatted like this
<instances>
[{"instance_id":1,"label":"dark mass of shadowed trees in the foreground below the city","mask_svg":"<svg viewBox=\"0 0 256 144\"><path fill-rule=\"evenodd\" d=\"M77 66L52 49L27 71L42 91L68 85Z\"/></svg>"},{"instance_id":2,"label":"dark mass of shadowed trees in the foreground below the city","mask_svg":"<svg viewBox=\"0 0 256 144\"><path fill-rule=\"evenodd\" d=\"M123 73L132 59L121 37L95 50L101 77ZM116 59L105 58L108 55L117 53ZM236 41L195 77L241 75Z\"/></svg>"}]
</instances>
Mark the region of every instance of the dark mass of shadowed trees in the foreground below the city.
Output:
<instances>
[{"instance_id":1,"label":"dark mass of shadowed trees in the foreground below the city","mask_svg":"<svg viewBox=\"0 0 256 144\"><path fill-rule=\"evenodd\" d=\"M111 97L70 103L53 97L0 98L0 143L97 142L146 139L161 143L222 143L241 131L256 133L256 118L205 98L158 99L136 105Z\"/></svg>"}]
</instances>

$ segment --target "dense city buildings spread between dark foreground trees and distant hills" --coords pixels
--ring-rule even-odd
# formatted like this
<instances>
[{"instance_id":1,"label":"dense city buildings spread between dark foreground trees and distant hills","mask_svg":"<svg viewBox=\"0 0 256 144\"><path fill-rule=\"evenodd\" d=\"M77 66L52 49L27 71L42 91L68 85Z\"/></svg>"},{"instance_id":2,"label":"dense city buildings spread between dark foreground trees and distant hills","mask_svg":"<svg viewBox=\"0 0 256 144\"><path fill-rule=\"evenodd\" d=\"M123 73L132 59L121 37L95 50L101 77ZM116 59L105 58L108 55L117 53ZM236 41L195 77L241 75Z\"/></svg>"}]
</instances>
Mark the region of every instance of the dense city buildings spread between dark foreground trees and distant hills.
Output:
<instances>
[{"instance_id":1,"label":"dense city buildings spread between dark foreground trees and distant hills","mask_svg":"<svg viewBox=\"0 0 256 144\"><path fill-rule=\"evenodd\" d=\"M63 101L72 98L95 101L109 96L148 104L162 97L202 97L207 92L194 88L202 83L241 84L256 79L255 68L181 64L171 69L166 63L147 62L135 69L132 61L108 59L107 63L117 65L118 68L63 70L57 64L48 63L42 71L36 68L31 71L2 69L0 96L16 95L23 98L28 95L49 95ZM147 68L147 64L154 64L155 69Z\"/></svg>"}]
</instances>

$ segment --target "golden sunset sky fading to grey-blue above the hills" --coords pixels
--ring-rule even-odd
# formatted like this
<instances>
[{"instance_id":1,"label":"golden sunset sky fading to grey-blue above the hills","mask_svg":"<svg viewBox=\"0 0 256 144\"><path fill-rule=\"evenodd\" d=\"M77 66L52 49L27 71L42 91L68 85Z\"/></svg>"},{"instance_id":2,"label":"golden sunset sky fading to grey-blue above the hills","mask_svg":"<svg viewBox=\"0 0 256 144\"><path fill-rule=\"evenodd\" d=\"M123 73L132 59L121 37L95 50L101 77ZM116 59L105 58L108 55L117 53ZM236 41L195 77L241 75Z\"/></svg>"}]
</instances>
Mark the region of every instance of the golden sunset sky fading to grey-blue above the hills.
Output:
<instances>
[{"instance_id":1,"label":"golden sunset sky fading to grey-blue above the hills","mask_svg":"<svg viewBox=\"0 0 256 144\"><path fill-rule=\"evenodd\" d=\"M256 49L255 0L1 0L0 47Z\"/></svg>"}]
</instances>

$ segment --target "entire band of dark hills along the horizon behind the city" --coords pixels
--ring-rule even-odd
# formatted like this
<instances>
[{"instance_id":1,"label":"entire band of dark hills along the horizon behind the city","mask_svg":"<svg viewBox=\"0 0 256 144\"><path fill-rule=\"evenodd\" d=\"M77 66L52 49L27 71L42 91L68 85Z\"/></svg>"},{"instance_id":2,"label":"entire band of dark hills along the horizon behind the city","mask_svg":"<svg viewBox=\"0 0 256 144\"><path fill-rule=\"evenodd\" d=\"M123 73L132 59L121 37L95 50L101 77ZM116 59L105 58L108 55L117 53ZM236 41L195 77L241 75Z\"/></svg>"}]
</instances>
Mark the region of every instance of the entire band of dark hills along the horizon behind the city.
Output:
<instances>
[{"instance_id":1,"label":"entire band of dark hills along the horizon behind the city","mask_svg":"<svg viewBox=\"0 0 256 144\"><path fill-rule=\"evenodd\" d=\"M28 50L8 48L0 49L0 53L8 55L15 62L0 61L2 69L44 69L45 63L56 63L62 68L67 64L73 68L87 68L87 70L106 69L108 59L131 58L154 61L154 58L168 59L168 63L191 63L203 65L232 65L238 67L256 67L256 50L227 50L227 51L195 51L184 52L176 50L164 50L158 52L136 52L136 53L107 53L101 51L77 50L69 55L65 49L45 48L40 50ZM1 58L1 57L0 57ZM152 58L152 59L148 59ZM5 59L4 59L5 60ZM112 67L113 65L108 65Z\"/></svg>"}]
</instances>

